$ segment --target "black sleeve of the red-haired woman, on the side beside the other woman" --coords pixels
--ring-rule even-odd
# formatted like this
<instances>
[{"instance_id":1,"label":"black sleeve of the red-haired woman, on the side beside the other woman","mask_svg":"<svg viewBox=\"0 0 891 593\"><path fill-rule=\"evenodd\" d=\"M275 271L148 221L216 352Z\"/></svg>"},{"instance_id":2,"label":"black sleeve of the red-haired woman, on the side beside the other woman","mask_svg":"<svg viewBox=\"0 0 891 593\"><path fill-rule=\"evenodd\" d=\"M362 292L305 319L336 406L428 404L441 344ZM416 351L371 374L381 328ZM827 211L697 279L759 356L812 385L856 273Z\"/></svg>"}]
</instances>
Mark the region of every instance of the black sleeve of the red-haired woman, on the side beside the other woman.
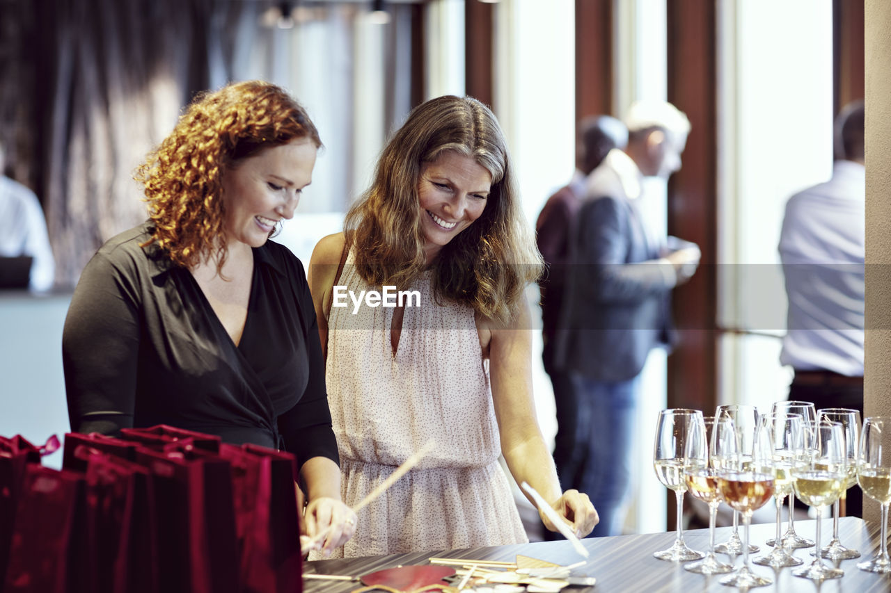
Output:
<instances>
[{"instance_id":1,"label":"black sleeve of the red-haired woman, on the side beside the other woman","mask_svg":"<svg viewBox=\"0 0 891 593\"><path fill-rule=\"evenodd\" d=\"M278 429L284 439L285 449L297 456L299 464L314 457L327 457L339 465L337 440L331 429L331 411L328 410L325 365L319 342L319 326L315 320L315 307L303 267L297 258L294 258L294 262L296 266L289 265L289 275L294 283L292 288L298 299L297 306L305 329L309 380L297 404L279 416Z\"/></svg>"}]
</instances>

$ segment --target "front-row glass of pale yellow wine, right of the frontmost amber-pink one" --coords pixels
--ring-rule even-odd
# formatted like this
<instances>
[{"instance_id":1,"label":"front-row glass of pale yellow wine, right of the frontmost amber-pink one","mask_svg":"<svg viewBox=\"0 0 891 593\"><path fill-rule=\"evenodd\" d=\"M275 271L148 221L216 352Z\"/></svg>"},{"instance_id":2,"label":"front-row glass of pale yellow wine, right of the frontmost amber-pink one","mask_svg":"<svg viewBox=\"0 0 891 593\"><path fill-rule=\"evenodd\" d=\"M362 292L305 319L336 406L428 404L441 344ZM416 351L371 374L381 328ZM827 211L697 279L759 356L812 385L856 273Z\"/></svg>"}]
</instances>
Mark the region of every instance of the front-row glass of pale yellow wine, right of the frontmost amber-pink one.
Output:
<instances>
[{"instance_id":1,"label":"front-row glass of pale yellow wine, right of the frontmost amber-pink one","mask_svg":"<svg viewBox=\"0 0 891 593\"><path fill-rule=\"evenodd\" d=\"M805 464L792 470L795 477L795 495L805 505L816 509L816 546L820 548L820 524L822 510L841 496L847 484L847 452L845 429L838 422L821 420L814 428L811 455ZM845 571L823 564L820 554L813 555L813 562L794 573L795 576L822 582L840 579Z\"/></svg>"}]
</instances>

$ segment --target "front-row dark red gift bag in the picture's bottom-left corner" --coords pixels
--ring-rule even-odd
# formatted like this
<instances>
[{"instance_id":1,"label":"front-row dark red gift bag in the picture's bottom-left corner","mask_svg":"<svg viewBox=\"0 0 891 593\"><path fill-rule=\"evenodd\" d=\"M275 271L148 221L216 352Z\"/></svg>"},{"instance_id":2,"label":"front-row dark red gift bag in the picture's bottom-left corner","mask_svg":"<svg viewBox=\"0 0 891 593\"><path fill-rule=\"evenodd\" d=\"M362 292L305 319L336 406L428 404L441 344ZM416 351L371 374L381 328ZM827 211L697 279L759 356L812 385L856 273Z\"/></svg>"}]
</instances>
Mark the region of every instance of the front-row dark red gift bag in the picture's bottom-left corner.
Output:
<instances>
[{"instance_id":1,"label":"front-row dark red gift bag in the picture's bottom-left corner","mask_svg":"<svg viewBox=\"0 0 891 593\"><path fill-rule=\"evenodd\" d=\"M89 590L85 476L28 464L12 528L5 593Z\"/></svg>"}]
</instances>

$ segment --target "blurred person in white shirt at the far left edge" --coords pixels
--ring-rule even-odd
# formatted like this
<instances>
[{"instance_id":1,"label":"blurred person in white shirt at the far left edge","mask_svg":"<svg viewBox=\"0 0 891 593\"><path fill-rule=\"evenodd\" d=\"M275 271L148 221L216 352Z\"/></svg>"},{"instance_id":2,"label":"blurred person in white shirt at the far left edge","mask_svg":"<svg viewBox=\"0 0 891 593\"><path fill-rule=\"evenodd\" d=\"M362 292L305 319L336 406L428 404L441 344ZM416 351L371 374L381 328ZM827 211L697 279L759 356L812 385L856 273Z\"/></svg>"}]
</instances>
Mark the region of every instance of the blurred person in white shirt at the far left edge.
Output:
<instances>
[{"instance_id":1,"label":"blurred person in white shirt at the far left edge","mask_svg":"<svg viewBox=\"0 0 891 593\"><path fill-rule=\"evenodd\" d=\"M5 164L0 144L0 174ZM5 175L0 175L0 256L33 257L29 288L47 290L53 286L55 260L44 211L33 191Z\"/></svg>"}]
</instances>

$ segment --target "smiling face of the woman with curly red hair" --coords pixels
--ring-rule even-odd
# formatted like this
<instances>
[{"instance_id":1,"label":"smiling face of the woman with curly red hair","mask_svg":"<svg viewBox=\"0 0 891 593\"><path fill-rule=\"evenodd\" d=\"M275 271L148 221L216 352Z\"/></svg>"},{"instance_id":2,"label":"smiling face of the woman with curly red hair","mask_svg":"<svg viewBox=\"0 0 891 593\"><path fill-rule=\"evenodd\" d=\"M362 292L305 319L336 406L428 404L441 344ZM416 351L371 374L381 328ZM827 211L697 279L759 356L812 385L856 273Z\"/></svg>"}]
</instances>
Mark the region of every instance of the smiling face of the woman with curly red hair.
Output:
<instances>
[{"instance_id":1,"label":"smiling face of the woman with curly red hair","mask_svg":"<svg viewBox=\"0 0 891 593\"><path fill-rule=\"evenodd\" d=\"M300 192L312 182L315 153L309 138L261 150L223 177L226 239L261 247L275 223L294 215Z\"/></svg>"}]
</instances>

